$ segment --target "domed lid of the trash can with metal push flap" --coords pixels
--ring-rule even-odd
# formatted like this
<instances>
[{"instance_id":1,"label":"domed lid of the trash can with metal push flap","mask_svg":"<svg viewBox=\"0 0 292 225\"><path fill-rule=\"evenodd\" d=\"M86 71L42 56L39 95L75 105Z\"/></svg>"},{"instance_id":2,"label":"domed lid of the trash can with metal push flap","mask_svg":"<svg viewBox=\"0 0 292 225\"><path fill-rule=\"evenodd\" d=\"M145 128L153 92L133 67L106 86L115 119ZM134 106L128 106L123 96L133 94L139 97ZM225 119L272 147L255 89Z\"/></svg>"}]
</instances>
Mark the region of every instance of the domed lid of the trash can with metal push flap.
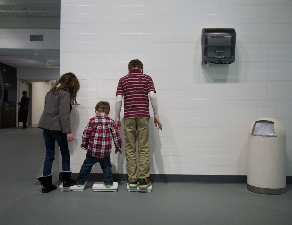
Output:
<instances>
[{"instance_id":1,"label":"domed lid of the trash can with metal push flap","mask_svg":"<svg viewBox=\"0 0 292 225\"><path fill-rule=\"evenodd\" d=\"M286 138L284 126L276 119L263 117L255 120L248 130L248 136Z\"/></svg>"}]
</instances>

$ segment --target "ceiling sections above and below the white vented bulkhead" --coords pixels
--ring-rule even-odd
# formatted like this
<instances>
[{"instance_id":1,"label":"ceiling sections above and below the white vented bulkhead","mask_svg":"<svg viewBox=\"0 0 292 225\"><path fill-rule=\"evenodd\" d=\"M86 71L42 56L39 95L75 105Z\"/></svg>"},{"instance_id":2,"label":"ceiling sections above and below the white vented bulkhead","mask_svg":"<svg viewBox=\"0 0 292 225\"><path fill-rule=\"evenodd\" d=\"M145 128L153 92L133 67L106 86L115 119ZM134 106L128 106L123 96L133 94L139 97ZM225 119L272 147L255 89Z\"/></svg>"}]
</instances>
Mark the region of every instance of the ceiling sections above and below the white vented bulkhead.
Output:
<instances>
[{"instance_id":1,"label":"ceiling sections above and below the white vented bulkhead","mask_svg":"<svg viewBox=\"0 0 292 225\"><path fill-rule=\"evenodd\" d=\"M0 28L60 29L60 0L0 0ZM60 49L0 49L15 68L59 68Z\"/></svg>"}]
</instances>

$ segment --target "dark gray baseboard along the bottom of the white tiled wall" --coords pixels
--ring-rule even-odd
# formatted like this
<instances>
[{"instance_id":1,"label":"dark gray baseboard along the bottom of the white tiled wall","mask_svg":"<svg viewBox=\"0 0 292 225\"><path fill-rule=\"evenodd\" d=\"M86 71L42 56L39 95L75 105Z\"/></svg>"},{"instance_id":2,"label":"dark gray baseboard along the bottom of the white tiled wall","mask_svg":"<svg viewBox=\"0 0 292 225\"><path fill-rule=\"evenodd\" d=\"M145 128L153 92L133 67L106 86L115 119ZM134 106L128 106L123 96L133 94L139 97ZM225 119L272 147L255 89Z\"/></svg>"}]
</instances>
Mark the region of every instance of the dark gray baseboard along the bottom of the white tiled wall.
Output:
<instances>
[{"instance_id":1,"label":"dark gray baseboard along the bottom of the white tiled wall","mask_svg":"<svg viewBox=\"0 0 292 225\"><path fill-rule=\"evenodd\" d=\"M72 174L76 179L78 173ZM127 174L113 174L115 182L128 181ZM62 181L61 173L59 180ZM102 181L102 174L90 174L88 181ZM247 183L247 176L240 175L179 175L179 174L150 174L151 182L159 183ZM292 176L286 176L286 184L292 184Z\"/></svg>"}]
</instances>

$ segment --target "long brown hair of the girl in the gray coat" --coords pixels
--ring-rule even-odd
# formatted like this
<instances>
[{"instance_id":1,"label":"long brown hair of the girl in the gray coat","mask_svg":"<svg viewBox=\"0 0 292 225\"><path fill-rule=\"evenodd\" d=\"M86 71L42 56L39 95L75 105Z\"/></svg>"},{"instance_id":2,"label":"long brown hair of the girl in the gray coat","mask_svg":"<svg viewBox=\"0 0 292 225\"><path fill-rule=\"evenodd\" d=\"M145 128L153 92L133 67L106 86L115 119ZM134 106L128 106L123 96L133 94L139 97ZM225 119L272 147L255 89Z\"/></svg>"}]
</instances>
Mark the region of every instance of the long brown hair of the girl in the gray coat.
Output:
<instances>
[{"instance_id":1,"label":"long brown hair of the girl in the gray coat","mask_svg":"<svg viewBox=\"0 0 292 225\"><path fill-rule=\"evenodd\" d=\"M61 85L57 87L58 84L61 84ZM77 107L78 104L76 101L76 95L77 95L77 92L79 91L80 84L75 74L74 73L63 74L58 80L58 82L55 84L55 86L49 92L52 92L55 95L59 95L61 87L68 90L68 92L70 93L70 102L73 105L75 105L75 107Z\"/></svg>"}]
</instances>

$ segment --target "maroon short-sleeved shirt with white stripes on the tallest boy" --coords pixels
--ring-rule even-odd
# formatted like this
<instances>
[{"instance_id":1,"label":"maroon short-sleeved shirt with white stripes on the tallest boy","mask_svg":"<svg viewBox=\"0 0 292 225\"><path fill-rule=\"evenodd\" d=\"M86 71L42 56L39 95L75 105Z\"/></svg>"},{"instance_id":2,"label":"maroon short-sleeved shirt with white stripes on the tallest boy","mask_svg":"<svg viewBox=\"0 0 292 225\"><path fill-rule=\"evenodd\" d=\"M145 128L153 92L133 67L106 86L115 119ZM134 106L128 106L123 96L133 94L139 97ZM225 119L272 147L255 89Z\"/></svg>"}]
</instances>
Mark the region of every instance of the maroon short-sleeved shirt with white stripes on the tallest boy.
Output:
<instances>
[{"instance_id":1,"label":"maroon short-sleeved shirt with white stripes on the tallest boy","mask_svg":"<svg viewBox=\"0 0 292 225\"><path fill-rule=\"evenodd\" d=\"M124 96L124 120L128 118L150 118L148 92L155 91L150 76L133 69L119 80L116 96Z\"/></svg>"}]
</instances>

